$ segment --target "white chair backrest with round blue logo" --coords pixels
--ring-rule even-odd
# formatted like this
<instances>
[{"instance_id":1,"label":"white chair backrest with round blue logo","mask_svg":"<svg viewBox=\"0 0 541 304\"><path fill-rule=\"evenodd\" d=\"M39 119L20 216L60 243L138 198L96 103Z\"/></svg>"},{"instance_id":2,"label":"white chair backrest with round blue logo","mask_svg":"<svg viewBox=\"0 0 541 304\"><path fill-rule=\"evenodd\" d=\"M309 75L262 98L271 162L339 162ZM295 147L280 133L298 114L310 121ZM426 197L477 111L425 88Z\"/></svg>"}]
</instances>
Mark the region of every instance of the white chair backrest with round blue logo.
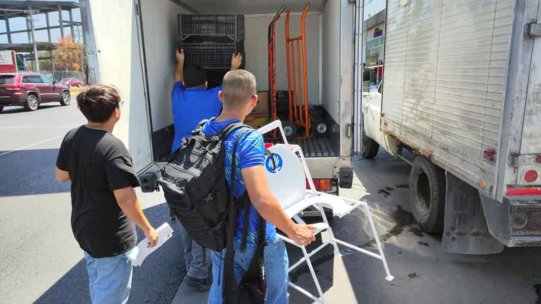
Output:
<instances>
[{"instance_id":1,"label":"white chair backrest with round blue logo","mask_svg":"<svg viewBox=\"0 0 541 304\"><path fill-rule=\"evenodd\" d=\"M291 207L305 197L306 175L298 155L284 144L275 144L268 149L274 154L273 162L265 157L267 181L272 193L283 209Z\"/></svg>"}]
</instances>

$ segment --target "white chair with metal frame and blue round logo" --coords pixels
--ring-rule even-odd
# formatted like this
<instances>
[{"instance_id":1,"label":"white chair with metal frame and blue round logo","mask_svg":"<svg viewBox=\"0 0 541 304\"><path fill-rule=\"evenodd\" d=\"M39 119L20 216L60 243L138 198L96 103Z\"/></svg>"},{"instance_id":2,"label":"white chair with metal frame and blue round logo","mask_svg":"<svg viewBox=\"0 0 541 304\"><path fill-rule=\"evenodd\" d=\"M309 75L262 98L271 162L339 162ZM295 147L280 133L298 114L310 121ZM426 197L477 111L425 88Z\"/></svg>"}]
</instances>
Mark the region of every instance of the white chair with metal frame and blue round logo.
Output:
<instances>
[{"instance_id":1,"label":"white chair with metal frame and blue round logo","mask_svg":"<svg viewBox=\"0 0 541 304\"><path fill-rule=\"evenodd\" d=\"M301 265L301 263L306 262L308 268L310 269L310 273L312 274L312 277L314 279L315 286L318 289L319 297L312 295L311 293L307 292L307 290L295 285L294 283L289 282L289 285L301 292L302 294L308 296L312 300L319 303L324 303L323 292L321 290L321 286L319 285L319 280L315 275L312 262L310 261L310 257L312 257L315 253L319 252L319 250L321 250L328 244L332 244L332 246L334 247L335 257L341 256L338 249L338 244L340 244L342 246L351 248L353 250L381 260L385 269L385 273L387 275L385 279L387 281L393 280L394 277L389 272L387 261L385 260L385 255L383 253L383 249L381 248L378 232L375 229L374 220L372 219L372 213L370 211L370 207L368 207L368 204L364 201L349 200L344 197L316 191L314 183L312 181L312 176L308 170L306 160L304 158L304 155L302 154L301 148L299 146L287 143L287 139L285 134L283 133L281 122L274 121L261 127L258 131L261 134L265 134L276 128L280 130L284 144L275 144L274 146L269 148L269 151L274 154L274 163L268 157L265 160L269 187L271 188L276 199L278 199L278 201L280 202L285 213L298 223L304 223L304 221L302 221L302 219L297 214L299 214L308 207L315 207L316 209L318 209L323 219L323 222L315 224L317 229L314 231L314 235L317 235L325 230L327 230L329 234L329 240L322 243L318 248L312 250L312 252L310 253L307 252L305 246L301 246L299 243L294 242L286 236L278 235L280 239L301 248L304 257L302 257L302 259L296 262L293 266L289 267L289 272ZM306 180L308 180L310 189L306 189ZM332 209L333 215L341 218L342 216L351 213L354 209L360 206L364 207L365 213L368 217L368 221L370 222L370 227L372 228L372 233L374 235L379 254L338 240L334 236L333 231L327 221L325 211L322 208L327 207L329 209Z\"/></svg>"}]
</instances>

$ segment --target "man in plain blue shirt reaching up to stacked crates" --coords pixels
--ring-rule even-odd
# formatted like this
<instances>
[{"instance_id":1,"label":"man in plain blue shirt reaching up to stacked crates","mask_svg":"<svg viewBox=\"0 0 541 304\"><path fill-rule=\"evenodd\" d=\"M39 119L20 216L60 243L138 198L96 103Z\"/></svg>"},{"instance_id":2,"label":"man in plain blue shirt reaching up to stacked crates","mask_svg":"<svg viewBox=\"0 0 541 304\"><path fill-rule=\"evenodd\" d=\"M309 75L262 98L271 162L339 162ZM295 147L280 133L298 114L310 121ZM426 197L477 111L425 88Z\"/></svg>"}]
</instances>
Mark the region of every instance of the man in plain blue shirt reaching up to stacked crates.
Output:
<instances>
[{"instance_id":1,"label":"man in plain blue shirt reaching up to stacked crates","mask_svg":"<svg viewBox=\"0 0 541 304\"><path fill-rule=\"evenodd\" d=\"M192 130L197 128L202 120L220 114L222 103L218 98L221 85L207 89L207 74L201 67L187 66L184 69L184 50L176 50L175 84L171 93L173 107L173 122L175 123L175 138L171 153L182 146L182 137L192 136ZM241 54L231 57L231 69L236 70L242 62ZM186 72L186 80L184 79ZM206 291L210 288L210 251L202 248L188 234L179 221L180 235L186 260L186 285L196 290Z\"/></svg>"}]
</instances>

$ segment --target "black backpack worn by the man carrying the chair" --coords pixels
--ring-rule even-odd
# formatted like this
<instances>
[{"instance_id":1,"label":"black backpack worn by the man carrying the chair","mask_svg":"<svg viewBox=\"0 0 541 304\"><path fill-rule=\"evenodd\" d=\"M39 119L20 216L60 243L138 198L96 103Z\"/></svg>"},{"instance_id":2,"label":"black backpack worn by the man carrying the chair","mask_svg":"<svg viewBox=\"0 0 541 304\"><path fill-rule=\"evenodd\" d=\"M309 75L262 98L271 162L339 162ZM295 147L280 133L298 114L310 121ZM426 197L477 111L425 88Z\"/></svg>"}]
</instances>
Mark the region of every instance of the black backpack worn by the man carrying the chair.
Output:
<instances>
[{"instance_id":1,"label":"black backpack worn by the man carrying the chair","mask_svg":"<svg viewBox=\"0 0 541 304\"><path fill-rule=\"evenodd\" d=\"M229 206L223 142L234 130L245 128L241 131L244 133L250 127L242 123L230 123L217 134L206 135L202 130L206 122L202 121L192 131L192 137L182 139L182 147L173 153L169 163L161 169L158 182L169 206L171 221L174 222L175 216L178 217L197 243L220 251L227 245ZM242 207L242 204L239 205Z\"/></svg>"}]
</instances>

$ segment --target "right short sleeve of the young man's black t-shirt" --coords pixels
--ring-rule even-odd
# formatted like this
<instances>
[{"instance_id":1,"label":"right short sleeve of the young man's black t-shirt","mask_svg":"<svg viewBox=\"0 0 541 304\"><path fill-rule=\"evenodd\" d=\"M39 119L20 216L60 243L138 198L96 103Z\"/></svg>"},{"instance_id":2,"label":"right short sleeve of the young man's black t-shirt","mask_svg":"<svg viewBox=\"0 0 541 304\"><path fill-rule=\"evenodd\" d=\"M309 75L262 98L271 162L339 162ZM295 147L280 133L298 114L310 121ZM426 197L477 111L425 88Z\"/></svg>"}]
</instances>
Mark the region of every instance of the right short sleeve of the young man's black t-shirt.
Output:
<instances>
[{"instance_id":1,"label":"right short sleeve of the young man's black t-shirt","mask_svg":"<svg viewBox=\"0 0 541 304\"><path fill-rule=\"evenodd\" d=\"M120 141L115 142L107 151L105 171L107 171L107 180L111 191L140 186L131 162L131 156Z\"/></svg>"}]
</instances>

